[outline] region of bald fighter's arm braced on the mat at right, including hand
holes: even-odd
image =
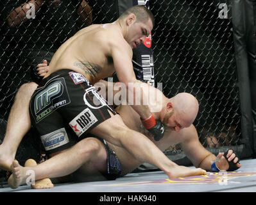
[[[187,158],[192,161],[195,167],[203,168],[207,171],[212,171],[212,164],[215,162],[219,170],[228,170],[228,161],[233,161],[237,168],[241,167],[241,164],[237,163],[238,158],[232,150],[227,153],[220,152],[216,157],[211,152],[207,151],[203,145],[201,145],[198,139],[198,133],[194,126],[191,127],[190,131],[185,136],[183,142],[181,143],[183,152],[186,154]],[[226,158],[223,156],[226,154]]]

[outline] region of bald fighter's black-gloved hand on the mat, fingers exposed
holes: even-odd
[[[234,171],[242,165],[239,163],[239,158],[232,149],[228,149],[225,153],[219,152],[216,157],[216,165],[220,170]]]

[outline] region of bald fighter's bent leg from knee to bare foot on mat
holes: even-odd
[[[105,151],[105,148],[99,140],[85,138],[73,147],[56,154],[35,167],[22,167],[15,160],[12,163],[13,174],[8,179],[8,184],[11,188],[17,188],[26,183],[26,172],[28,170],[35,172],[35,180],[67,176],[78,170],[82,165],[86,166],[92,160],[96,160],[95,168],[103,171],[104,168],[107,168],[107,154],[102,155],[103,151]]]

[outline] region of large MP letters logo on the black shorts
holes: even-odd
[[[43,110],[51,104],[51,99],[53,97],[58,97],[62,95],[63,85],[60,82],[55,82],[51,85],[49,85],[46,89],[42,90],[42,92],[38,93],[35,97],[34,102],[34,108],[35,113],[38,113],[39,111]],[[56,96],[57,95],[57,96]]]

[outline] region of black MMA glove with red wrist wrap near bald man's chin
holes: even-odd
[[[148,119],[142,120],[142,125],[148,129],[149,133],[154,135],[154,140],[159,141],[164,136],[164,125],[160,120],[155,120],[155,117],[151,113]]]

